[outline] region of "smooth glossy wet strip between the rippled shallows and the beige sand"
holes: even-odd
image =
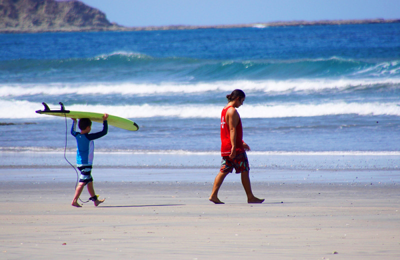
[[[212,183],[219,168],[166,167],[93,167],[92,175],[101,182],[201,182]],[[264,170],[250,169],[252,183],[267,184],[328,184],[328,185],[400,185],[398,170]],[[0,168],[0,182],[4,183],[76,183],[79,172],[72,167],[15,167]],[[224,183],[240,183],[240,174],[234,171]]]

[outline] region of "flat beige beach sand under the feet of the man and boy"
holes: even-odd
[[[221,205],[213,179],[95,180],[105,202],[81,208],[75,183],[2,181],[0,259],[400,259],[398,184],[253,181],[247,204],[229,177]]]

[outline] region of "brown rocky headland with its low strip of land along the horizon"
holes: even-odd
[[[0,33],[79,31],[187,30],[244,27],[312,26],[366,23],[398,23],[399,19],[293,20],[226,25],[122,26],[110,22],[99,9],[79,0],[2,0]]]

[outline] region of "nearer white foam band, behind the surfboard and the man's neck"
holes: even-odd
[[[59,107],[50,104],[49,107]],[[43,118],[46,115],[35,113],[42,109],[35,102],[0,99],[0,118]],[[219,118],[221,105],[180,104],[180,105],[83,105],[71,104],[68,110],[107,112],[127,118],[144,117],[178,117],[178,118]],[[265,103],[248,104],[238,108],[242,118],[274,118],[293,116],[321,116],[338,114],[358,115],[397,115],[400,116],[400,105],[394,102],[325,102],[325,103]]]

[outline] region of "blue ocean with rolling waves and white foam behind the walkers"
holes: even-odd
[[[64,164],[64,149],[73,163],[71,119],[35,113],[62,102],[139,125],[109,126],[99,154],[217,168],[220,111],[235,88],[246,93],[238,112],[255,167],[342,168],[332,156],[363,155],[400,168],[400,23],[0,34],[1,163],[54,152]],[[204,154],[215,160],[203,164]],[[320,159],[289,162],[299,154]],[[200,159],[174,161],[185,155]]]

